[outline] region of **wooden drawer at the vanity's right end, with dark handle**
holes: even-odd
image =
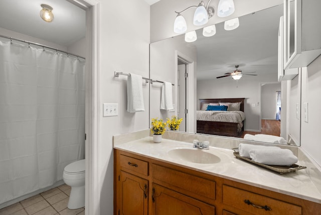
[[[302,214],[300,206],[227,185],[223,185],[223,203],[253,214]]]

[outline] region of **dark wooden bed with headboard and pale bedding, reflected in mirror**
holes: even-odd
[[[197,133],[240,137],[244,131],[244,99],[245,98],[206,98],[200,99],[200,111],[197,111]],[[209,103],[238,103],[239,111],[205,111]],[[203,110],[202,110],[203,109]],[[205,109],[205,110],[204,110]],[[213,115],[213,116],[212,116]],[[214,117],[217,115],[217,117]],[[223,115],[231,115],[225,120]],[[234,115],[234,116],[232,116]],[[211,118],[213,117],[213,119]]]

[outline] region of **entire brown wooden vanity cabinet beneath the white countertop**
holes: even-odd
[[[321,204],[114,150],[114,214],[321,214]]]

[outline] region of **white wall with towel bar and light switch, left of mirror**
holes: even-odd
[[[143,84],[145,112],[128,113],[126,76],[114,71],[149,74],[149,5],[141,0],[100,1],[99,13],[99,172],[100,214],[113,214],[113,135],[148,129],[148,85]],[[103,103],[118,103],[119,115],[102,117]]]

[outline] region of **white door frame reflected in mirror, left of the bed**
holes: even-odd
[[[195,91],[196,91],[196,77],[194,73],[194,60],[185,54],[175,51],[175,71],[178,70],[178,59],[186,64],[186,71],[188,73],[187,78],[187,92],[186,92],[186,104],[188,109],[187,120],[186,120],[186,131],[191,133],[196,133],[196,102],[195,102]],[[176,99],[178,99],[178,74],[176,72]],[[176,100],[176,103],[178,100]],[[176,110],[177,112],[177,110]]]

